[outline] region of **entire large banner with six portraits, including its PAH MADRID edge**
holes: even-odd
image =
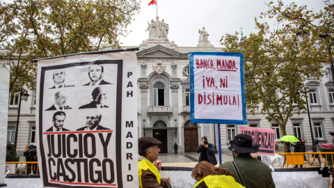
[[[138,187],[136,53],[38,62],[38,170],[45,187]]]

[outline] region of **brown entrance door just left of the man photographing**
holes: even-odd
[[[184,127],[184,152],[196,152],[198,148],[197,127]]]

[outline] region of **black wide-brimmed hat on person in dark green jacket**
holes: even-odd
[[[259,150],[259,146],[254,145],[252,137],[247,134],[238,134],[233,140],[230,140],[230,144],[231,146],[228,149],[239,153],[257,152]]]

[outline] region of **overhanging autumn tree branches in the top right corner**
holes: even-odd
[[[331,63],[332,79],[334,80],[333,51],[334,51],[334,4],[333,1],[323,0],[324,10],[314,13],[307,6],[297,6],[296,3],[285,5],[278,1],[277,5],[269,2],[269,10],[263,13],[264,17],[275,17],[279,24],[289,28],[289,24],[300,26],[308,33],[308,41],[315,42],[322,52],[323,62]],[[322,39],[321,39],[322,38]]]

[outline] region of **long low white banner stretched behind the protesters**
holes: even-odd
[[[276,187],[329,187],[330,178],[324,173],[319,173],[319,169],[320,167],[275,169],[271,172],[271,175]],[[191,171],[192,168],[162,166],[160,175],[161,177],[170,177],[170,185],[173,188],[192,188],[196,185],[196,180],[191,178]],[[40,178],[17,178],[17,176],[13,176],[6,178],[5,183],[7,187],[42,187]]]

